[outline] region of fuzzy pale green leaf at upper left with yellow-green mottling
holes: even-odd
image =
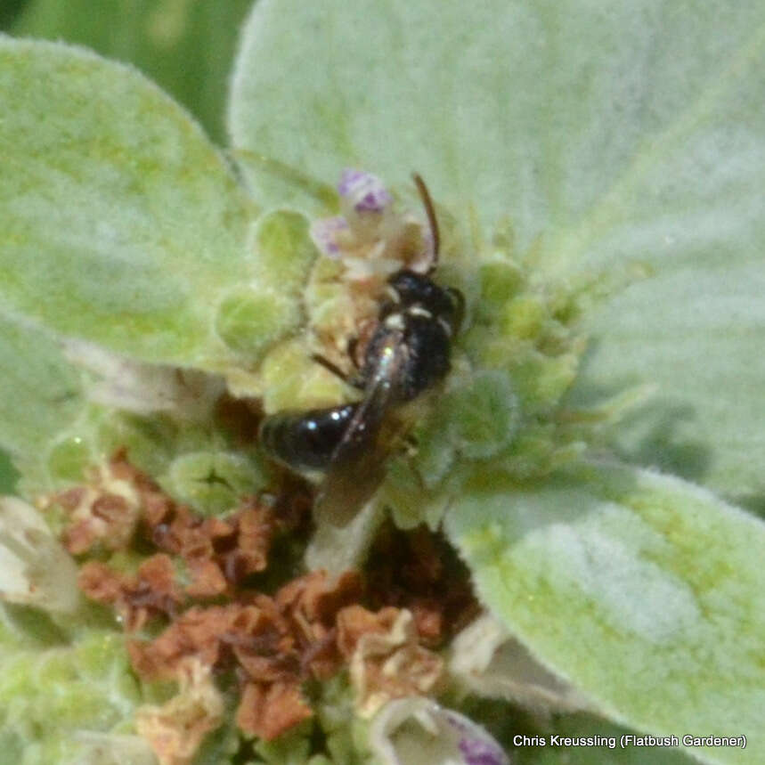
[[[199,127],[131,69],[0,40],[0,307],[146,361],[232,363],[253,210]],[[290,317],[294,319],[295,317]]]

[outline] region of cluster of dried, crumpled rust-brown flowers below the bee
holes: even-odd
[[[452,560],[444,565],[451,550],[425,528],[387,526],[367,583],[358,572],[330,579],[316,571],[273,596],[248,590],[248,577],[267,568],[276,535],[305,528],[310,497],[296,485],[294,494],[245,499],[227,517],[201,517],[118,452],[92,484],[53,498],[70,513],[70,549],[127,547],[140,530],[143,543],[160,550],[135,574],[88,561],[79,584],[113,606],[126,631],[152,617],[169,620],[156,639],[128,642],[139,677],[180,685],[170,702],[144,707],[137,718],[163,765],[186,765],[222,721],[218,672],[233,671],[240,681],[239,727],[271,740],[312,715],[305,680],[327,679],[346,665],[363,715],[389,699],[431,691],[443,662],[422,643],[439,644],[470,618],[475,599],[467,575]],[[183,584],[176,568],[188,577]],[[225,599],[191,602],[205,598]]]

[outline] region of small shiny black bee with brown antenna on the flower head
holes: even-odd
[[[385,461],[406,423],[404,404],[435,386],[450,369],[452,339],[460,329],[464,298],[430,278],[437,264],[439,233],[427,187],[414,175],[433,237],[428,274],[403,268],[387,281],[389,299],[354,377],[362,400],[327,409],[283,411],[264,420],[264,449],[290,468],[324,470],[317,517],[345,525],[385,476]],[[331,362],[314,357],[346,378]]]

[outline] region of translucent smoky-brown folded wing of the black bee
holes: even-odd
[[[389,414],[391,386],[380,378],[362,402],[335,448],[315,506],[317,523],[347,525],[369,501],[386,474],[401,424]]]

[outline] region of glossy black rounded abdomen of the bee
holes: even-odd
[[[326,469],[357,406],[346,403],[328,409],[273,414],[260,426],[260,443],[274,460],[289,468]]]

